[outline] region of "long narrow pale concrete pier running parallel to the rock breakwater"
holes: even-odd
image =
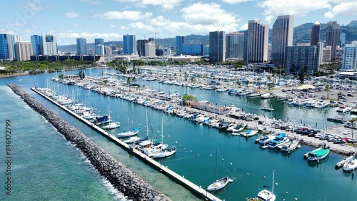
[[[73,111],[69,110],[68,108],[64,107],[64,105],[61,105],[61,104],[57,103],[56,101],[52,100],[48,96],[44,95],[44,93],[41,93],[40,91],[36,90],[36,88],[31,88],[31,90],[38,93],[40,96],[46,98],[46,100],[49,100],[51,103],[54,103],[59,108],[66,111],[66,113],[69,113],[69,114],[73,115],[75,118],[81,120],[81,122],[83,122],[86,125],[88,125],[89,127],[93,128],[98,133],[100,133],[104,137],[108,138],[112,142],[116,143],[116,145],[119,145],[121,148],[124,148],[124,150],[127,150],[129,153],[133,154],[140,160],[143,160],[145,163],[151,165],[151,167],[155,168],[156,170],[159,170],[164,175],[170,177],[172,180],[175,180],[183,187],[186,187],[186,189],[190,190],[198,197],[201,197],[201,199],[220,201],[220,199],[218,197],[212,195],[210,192],[207,192],[202,187],[198,187],[193,182],[190,182],[189,180],[187,180],[184,176],[178,175],[176,172],[170,170],[169,168],[162,166],[156,160],[149,158],[147,155],[144,155],[144,153],[141,153],[139,150],[135,150],[135,149],[131,148],[131,146],[124,143],[122,140],[116,138],[114,135],[111,135],[110,133],[107,133],[106,130],[99,128],[97,125],[95,125],[94,123],[91,123],[89,120],[82,118],[80,115],[78,115],[78,114],[74,113]]]

